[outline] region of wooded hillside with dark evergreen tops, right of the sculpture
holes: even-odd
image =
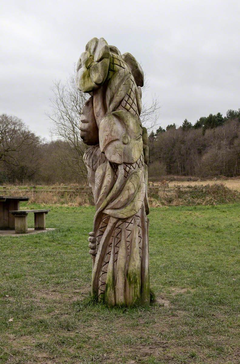
[[[150,177],[240,175],[240,109],[161,126],[149,135]]]

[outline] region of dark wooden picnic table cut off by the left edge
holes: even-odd
[[[29,197],[0,196],[0,229],[15,229],[15,217],[9,212],[19,210],[20,201],[28,201]]]

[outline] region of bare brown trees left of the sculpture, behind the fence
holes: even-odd
[[[83,183],[79,168],[82,172],[84,165],[69,143],[60,138],[45,141],[16,116],[0,115],[1,184]]]

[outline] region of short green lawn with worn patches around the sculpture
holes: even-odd
[[[0,363],[240,363],[240,204],[151,209],[148,309],[91,301],[93,215],[51,206],[55,231],[0,238]]]

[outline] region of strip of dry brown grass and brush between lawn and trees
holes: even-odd
[[[180,205],[216,205],[240,201],[240,179],[216,181],[161,181],[154,183],[158,189],[150,188],[148,191],[150,207],[180,206]],[[51,186],[54,187],[54,186]],[[150,182],[149,187],[153,187]],[[38,190],[36,192],[17,189],[10,186],[6,190],[0,189],[0,195],[15,195],[29,197],[29,204],[64,205],[64,206],[91,206],[94,205],[91,191],[64,190]]]

